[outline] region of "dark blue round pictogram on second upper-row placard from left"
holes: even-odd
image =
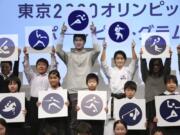
[[[41,29],[36,29],[29,35],[29,44],[35,50],[43,50],[49,44],[48,34]]]

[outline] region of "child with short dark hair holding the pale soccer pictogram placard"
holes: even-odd
[[[96,74],[90,73],[86,77],[86,84],[89,91],[96,91],[96,88],[99,83],[99,78]],[[77,111],[80,110],[80,107],[77,106]],[[104,108],[104,111],[107,112],[107,108]],[[92,126],[92,135],[103,135],[104,134],[104,120],[85,120]]]

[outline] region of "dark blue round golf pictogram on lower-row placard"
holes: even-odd
[[[129,126],[136,125],[142,119],[141,108],[137,104],[127,103],[121,107],[119,118],[124,120]]]

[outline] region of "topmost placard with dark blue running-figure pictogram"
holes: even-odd
[[[90,34],[92,24],[91,8],[67,8],[66,34]]]

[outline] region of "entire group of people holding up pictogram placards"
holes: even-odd
[[[99,78],[92,73],[92,67],[100,54],[100,47],[96,39],[96,27],[91,25],[92,34],[91,50],[84,48],[86,35],[75,34],[73,37],[74,49],[71,52],[63,50],[63,39],[67,27],[63,24],[60,39],[56,48],[52,48],[51,65],[40,58],[36,62],[35,71],[29,63],[27,48],[24,48],[24,73],[30,86],[30,100],[25,101],[23,110],[25,123],[6,123],[0,118],[0,135],[104,135],[104,120],[77,120],[77,112],[81,109],[77,105],[77,94],[79,90],[96,91]],[[101,54],[101,69],[108,79],[111,97],[108,99],[107,107],[104,111],[108,118],[114,116],[114,100],[127,98],[135,99],[137,84],[132,81],[138,67],[138,58],[135,52],[135,42],[132,41],[132,60],[125,66],[126,53],[118,50],[114,53],[114,67],[106,63],[107,43],[103,42]],[[178,63],[180,69],[180,45],[177,47]],[[20,49],[18,51],[20,56]],[[67,67],[65,85],[61,86],[61,76],[58,71],[58,62],[55,53]],[[140,67],[142,80],[145,84],[146,100],[146,131],[128,130],[127,124],[123,120],[114,121],[112,130],[114,135],[178,135],[179,127],[157,127],[158,117],[155,109],[155,96],[178,95],[178,80],[175,75],[171,75],[171,56],[163,64],[161,58],[152,58],[147,66],[146,59],[142,58],[143,51],[140,52]],[[19,59],[14,64],[11,61],[1,62],[0,93],[17,93],[21,89],[19,75]],[[38,119],[38,92],[39,91],[63,91],[68,90],[68,100],[65,105],[68,107],[68,117]],[[143,97],[142,97],[143,98]],[[27,125],[30,132],[25,130]]]

